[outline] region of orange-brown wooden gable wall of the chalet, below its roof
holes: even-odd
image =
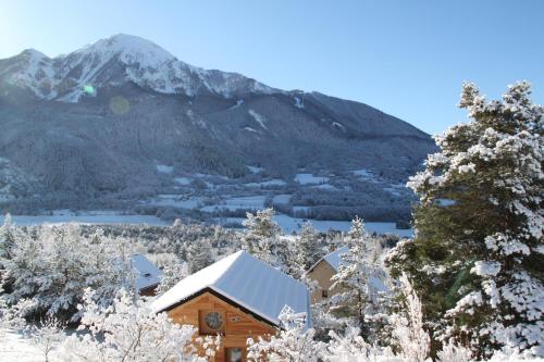
[[[225,348],[246,348],[248,338],[256,339],[258,336],[267,337],[275,334],[275,328],[268,323],[261,322],[249,313],[232,305],[211,292],[205,292],[168,312],[169,316],[176,323],[190,324],[199,327],[199,311],[214,310],[224,313],[225,335],[222,337],[221,348],[215,355],[215,362],[225,361]]]

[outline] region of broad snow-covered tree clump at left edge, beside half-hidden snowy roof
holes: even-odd
[[[34,315],[76,321],[86,288],[95,289],[97,301],[108,305],[116,290],[134,286],[127,244],[101,230],[83,236],[74,224],[17,234],[2,273],[5,300],[15,305],[30,299]]]

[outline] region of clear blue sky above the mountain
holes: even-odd
[[[138,35],[178,59],[364,102],[437,133],[466,120],[461,82],[544,100],[544,1],[0,0],[0,58]]]

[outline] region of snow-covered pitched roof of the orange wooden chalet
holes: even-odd
[[[288,305],[295,313],[306,313],[306,324],[310,326],[310,295],[306,286],[246,251],[187,276],[154,300],[152,308],[156,312],[168,310],[207,288],[274,325],[280,325],[279,316]]]

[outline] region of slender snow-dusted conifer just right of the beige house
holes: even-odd
[[[367,316],[375,309],[374,288],[369,280],[380,271],[376,260],[369,257],[373,255],[378,241],[364,229],[362,220],[356,217],[347,242],[349,249],[339,255],[338,271],[332,277],[332,288],[338,292],[331,298],[331,311],[368,336]]]

